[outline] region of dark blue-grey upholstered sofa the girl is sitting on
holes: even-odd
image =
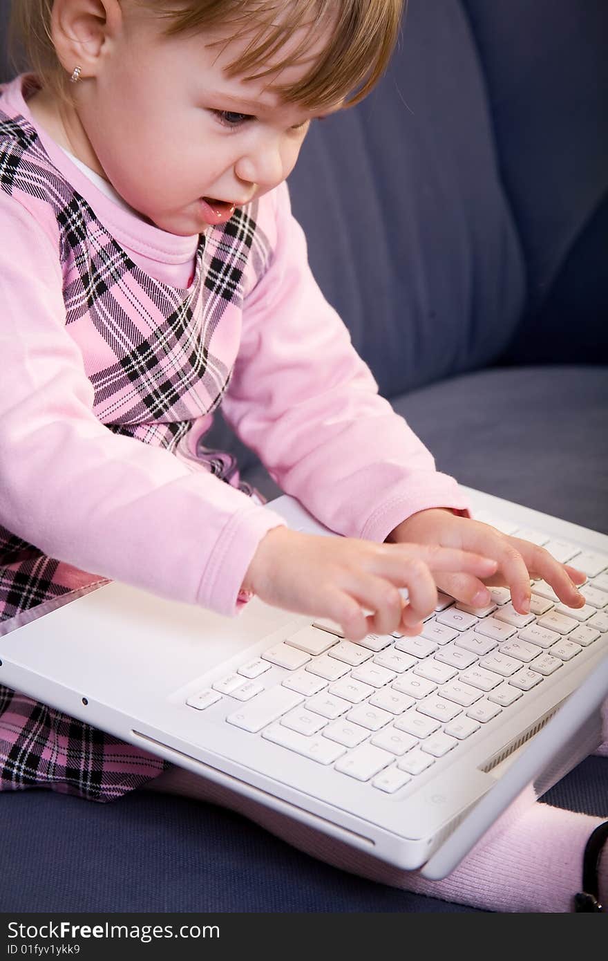
[[[410,0],[386,77],[311,130],[290,178],[315,276],[438,469],[604,532],[607,27],[602,0]],[[212,440],[280,493],[221,419]],[[607,769],[588,758],[547,801],[605,815]],[[195,801],[0,810],[4,911],[467,910]]]

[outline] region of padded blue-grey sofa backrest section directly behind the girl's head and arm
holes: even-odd
[[[458,0],[409,0],[389,71],[313,125],[289,184],[313,273],[385,396],[499,357],[523,259]]]

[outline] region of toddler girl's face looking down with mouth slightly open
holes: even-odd
[[[310,120],[320,115],[281,102],[266,86],[272,76],[228,79],[223,68],[246,40],[222,52],[206,46],[217,36],[166,38],[158,21],[125,25],[79,98],[85,133],[109,182],[172,234],[199,234],[231,215],[230,206],[215,205],[213,213],[202,198],[241,206],[279,185]],[[277,83],[297,81],[307,67],[288,67]]]

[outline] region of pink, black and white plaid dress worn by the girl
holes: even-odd
[[[110,431],[174,454],[185,450],[193,423],[218,407],[231,378],[238,335],[234,357],[226,350],[220,357],[213,334],[222,320],[240,332],[244,290],[272,256],[255,221],[257,203],[201,234],[194,280],[180,289],[135,264],[50,160],[32,124],[1,110],[0,188],[16,200],[43,200],[55,214],[66,331],[81,347],[95,416]],[[188,466],[257,494],[230,455],[199,443]],[[33,608],[37,616],[99,581],[0,527],[0,633],[32,620]],[[46,786],[109,801],[167,766],[0,686],[0,790]]]

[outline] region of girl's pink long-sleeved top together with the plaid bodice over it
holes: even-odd
[[[331,530],[379,542],[426,507],[471,516],[315,283],[287,185],[225,227],[167,234],[38,127],[30,83],[0,87],[0,525],[234,614],[260,539],[284,522],[198,462],[220,402]]]

